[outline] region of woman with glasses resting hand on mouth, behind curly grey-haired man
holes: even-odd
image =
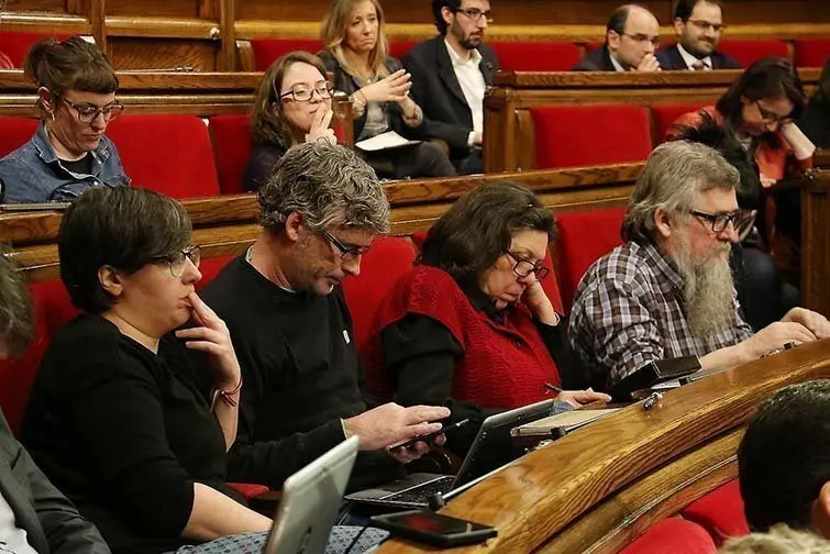
[[[255,192],[272,169],[295,144],[337,142],[329,128],[332,87],[323,63],[308,52],[289,52],[263,75],[251,118],[254,149],[243,177],[243,188]]]

